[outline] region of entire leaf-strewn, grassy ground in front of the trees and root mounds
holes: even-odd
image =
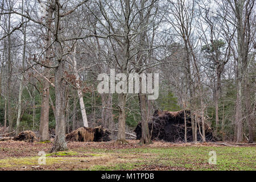
[[[140,146],[110,142],[69,142],[68,151],[49,153],[51,142],[0,142],[0,170],[256,170],[255,146],[154,142]],[[39,164],[39,151],[46,164]],[[209,164],[209,152],[217,164]],[[41,159],[41,158],[40,158]]]

